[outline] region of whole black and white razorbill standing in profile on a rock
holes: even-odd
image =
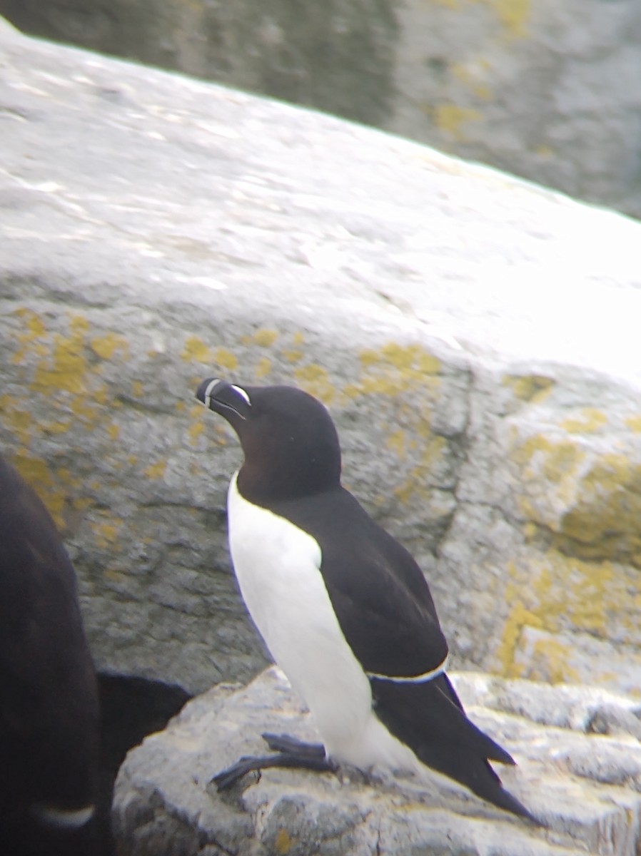
[[[421,569],[340,484],[326,407],[301,389],[214,378],[196,396],[242,443],[228,493],[231,560],[256,627],[323,741],[265,735],[282,757],[243,760],[216,777],[219,787],[270,765],[427,765],[533,819],[489,764],[512,757],[465,716],[447,678],[447,643]]]

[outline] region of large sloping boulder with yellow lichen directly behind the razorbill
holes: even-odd
[[[202,377],[332,408],[454,662],[641,681],[641,226],[423,146],[0,29],[0,446],[99,668],[266,663]]]

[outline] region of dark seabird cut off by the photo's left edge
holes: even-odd
[[[98,853],[99,706],[75,572],[0,457],[0,851]]]

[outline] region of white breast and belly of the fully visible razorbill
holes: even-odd
[[[289,520],[245,500],[236,479],[228,525],[238,585],[274,660],[308,704],[326,752],[359,767],[414,766],[413,753],[372,713],[368,678],[327,594],[319,544]]]

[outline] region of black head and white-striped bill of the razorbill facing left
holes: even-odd
[[[208,377],[199,401],[236,431],[245,461],[238,488],[259,504],[340,484],[338,434],[324,404],[292,386],[238,386]]]

